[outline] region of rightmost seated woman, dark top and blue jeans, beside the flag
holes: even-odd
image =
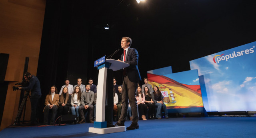
[[[151,97],[157,106],[156,118],[162,119],[162,115],[161,115],[162,108],[164,109],[164,114],[165,114],[164,118],[166,118],[166,119],[169,118],[166,105],[164,104],[164,99],[163,99],[162,93],[159,91],[157,86],[154,86],[154,92],[151,94]]]

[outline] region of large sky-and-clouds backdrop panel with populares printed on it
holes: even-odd
[[[206,111],[256,110],[256,41],[190,61]]]

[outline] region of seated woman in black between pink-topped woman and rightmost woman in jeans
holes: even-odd
[[[145,104],[148,106],[148,114],[150,119],[154,119],[155,114],[155,103],[152,101],[151,94],[147,86],[144,87]]]

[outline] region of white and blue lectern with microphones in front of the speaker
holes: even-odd
[[[125,131],[125,126],[115,126],[107,128],[107,122],[105,121],[105,105],[106,103],[106,91],[110,90],[113,92],[113,71],[117,71],[128,67],[128,63],[117,61],[114,59],[106,59],[105,56],[96,60],[94,62],[94,67],[98,67],[98,88],[97,88],[97,105],[96,105],[96,121],[94,122],[94,127],[89,128],[89,132],[97,134],[108,134],[114,132]],[[112,74],[112,77],[111,77]],[[109,81],[107,81],[107,75]],[[108,89],[107,88],[112,88]],[[109,95],[113,97],[113,95]],[[107,99],[108,100],[108,99]],[[111,106],[114,106],[112,104]],[[113,110],[111,111],[113,112]],[[108,114],[108,113],[107,113]],[[112,116],[111,116],[112,117]]]

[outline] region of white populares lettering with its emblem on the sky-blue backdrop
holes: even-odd
[[[255,48],[255,45],[252,46],[252,48],[250,48],[250,49],[246,49],[246,50],[242,50],[242,51],[238,51],[238,52],[233,51],[233,53],[228,54],[228,55],[224,55],[224,54],[215,55],[213,57],[213,62],[216,63],[216,60],[217,60],[217,63],[219,63],[222,60],[228,61],[228,59],[230,59],[230,58],[240,57],[244,54],[254,53],[254,50],[253,50],[254,48]]]

